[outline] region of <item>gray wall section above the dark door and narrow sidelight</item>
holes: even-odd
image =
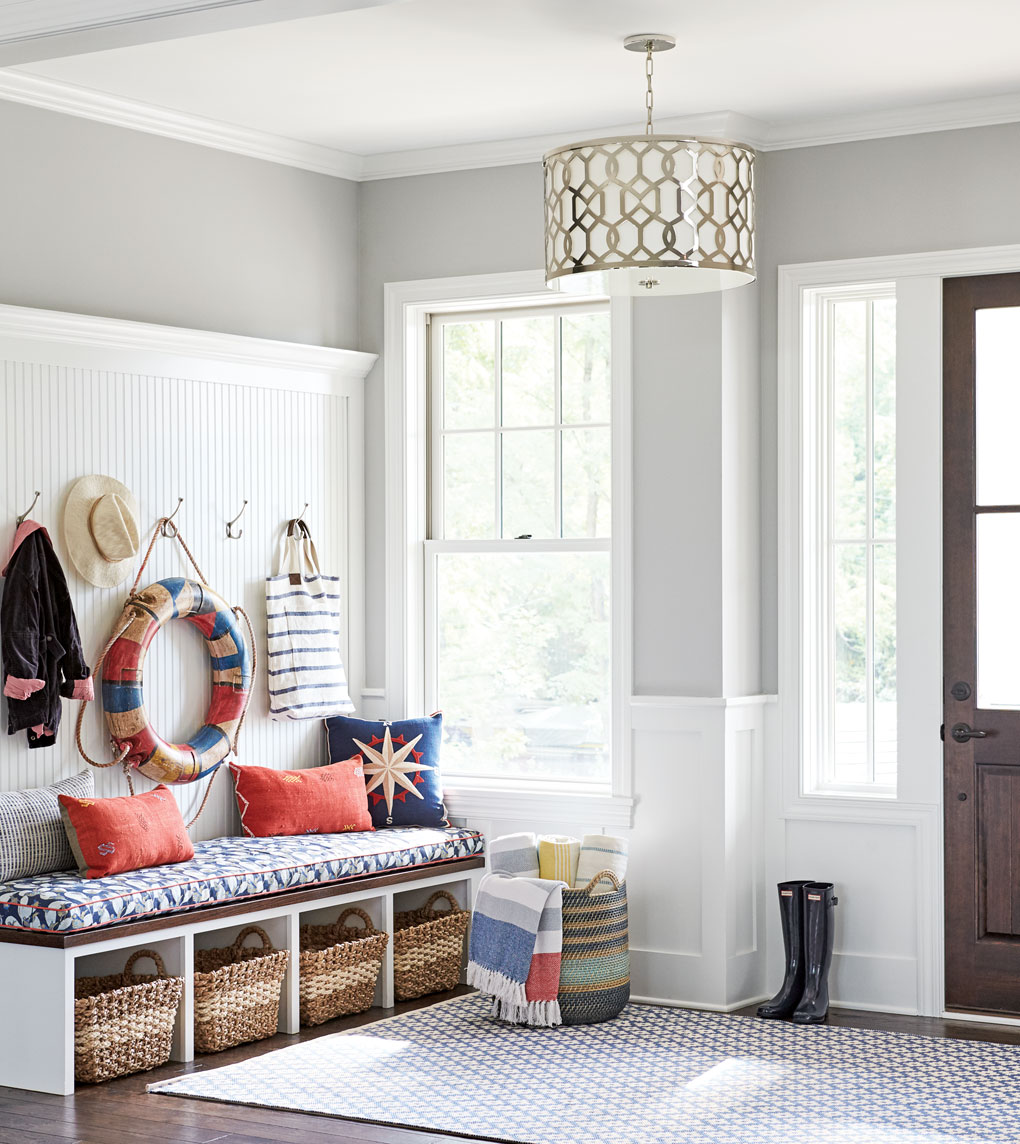
[[[762,156],[762,662],[778,682],[776,268],[1020,243],[1020,125]]]

